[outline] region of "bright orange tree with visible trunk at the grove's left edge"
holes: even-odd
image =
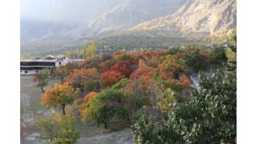
[[[72,88],[70,84],[54,84],[45,91],[42,96],[41,104],[48,107],[56,107],[61,105],[63,114],[65,115],[65,106],[72,105],[74,98],[79,94],[80,90]]]

